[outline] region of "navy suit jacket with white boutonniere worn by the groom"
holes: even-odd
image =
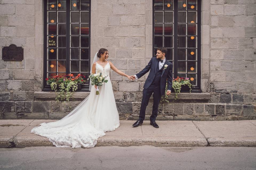
[[[165,94],[166,79],[167,79],[167,83],[168,83],[167,90],[171,90],[172,82],[173,82],[173,64],[171,62],[165,60],[163,67],[166,64],[168,66],[166,69],[164,69],[162,71],[161,80],[160,80],[161,81],[160,82],[161,95]],[[152,82],[155,78],[157,67],[159,67],[158,59],[156,57],[152,57],[151,60],[149,61],[148,65],[143,70],[141,70],[138,74],[136,74],[136,76],[138,78],[141,78],[144,74],[146,74],[150,70],[149,76],[147,77],[143,88],[147,89],[152,84]]]

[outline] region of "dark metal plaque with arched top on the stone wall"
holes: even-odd
[[[17,47],[15,44],[11,44],[3,47],[2,59],[4,61],[22,61],[23,60],[23,48]]]

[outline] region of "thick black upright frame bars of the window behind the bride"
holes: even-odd
[[[70,73],[70,2],[66,0],[66,74]],[[81,16],[80,16],[81,17]],[[91,50],[91,0],[89,0],[89,66],[91,64],[90,50]],[[47,78],[47,0],[43,1],[43,90],[52,91],[49,84],[45,80]],[[57,48],[56,48],[57,49]],[[90,70],[90,67],[89,67]],[[87,79],[88,77],[86,77]],[[89,84],[82,84],[81,90],[76,91],[89,91]]]

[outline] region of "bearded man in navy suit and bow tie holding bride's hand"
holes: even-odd
[[[142,93],[143,97],[141,101],[141,110],[139,112],[139,120],[137,120],[133,124],[133,127],[138,127],[143,123],[143,120],[145,119],[146,107],[149,104],[149,98],[153,93],[153,110],[150,116],[150,125],[154,126],[155,128],[159,128],[159,126],[155,122],[155,118],[157,117],[158,112],[158,105],[161,100],[161,96],[165,94],[166,79],[168,82],[168,88],[166,93],[167,95],[171,94],[173,80],[173,64],[166,60],[166,54],[166,48],[157,48],[157,57],[152,57],[148,65],[142,71],[140,71],[136,75],[131,76],[134,79],[139,79],[150,70],[149,75],[143,86],[144,89]]]

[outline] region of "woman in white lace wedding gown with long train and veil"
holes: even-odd
[[[109,75],[110,68],[129,80],[132,77],[118,70],[110,61],[107,49],[101,48],[94,56],[90,73]],[[119,115],[115,104],[114,93],[109,76],[99,88],[99,95],[95,95],[96,86],[73,111],[61,120],[41,123],[31,133],[49,138],[57,147],[85,147],[91,148],[97,144],[97,139],[105,135],[106,131],[114,131],[119,127]],[[91,87],[91,85],[90,85]]]

